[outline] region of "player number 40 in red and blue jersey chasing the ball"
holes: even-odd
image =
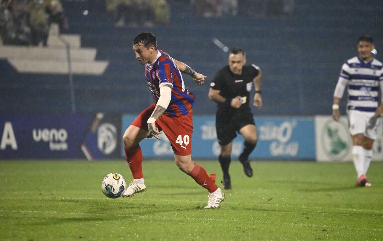
[[[202,84],[206,76],[157,49],[156,37],[152,33],[138,34],[133,39],[133,50],[136,59],[145,65],[145,78],[154,103],[137,116],[123,136],[126,161],[134,179],[122,196],[130,197],[146,190],[139,142],[146,137],[160,139],[163,130],[173,148],[177,166],[209,191],[205,208],[218,208],[224,194],[206,170],[191,160],[194,95],[185,88],[181,72],[190,75],[198,84]]]

